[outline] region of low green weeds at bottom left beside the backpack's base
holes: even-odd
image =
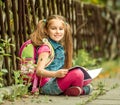
[[[11,101],[14,101],[18,97],[23,97],[28,94],[28,87],[31,85],[30,82],[28,84],[24,84],[23,78],[28,78],[26,75],[22,75],[20,71],[14,71],[14,79],[15,84],[13,84],[11,89],[8,89],[5,91],[5,94],[0,94],[0,103],[3,103],[4,99],[9,99]]]

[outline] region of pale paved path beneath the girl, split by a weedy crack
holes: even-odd
[[[105,84],[108,92],[106,94],[98,96],[97,99],[92,100],[89,103],[83,104],[90,97],[67,97],[67,96],[30,96],[29,98],[19,98],[14,102],[5,101],[3,105],[120,105],[120,76],[115,78],[104,78],[94,80],[94,85],[102,81]],[[113,88],[113,89],[112,89]]]

